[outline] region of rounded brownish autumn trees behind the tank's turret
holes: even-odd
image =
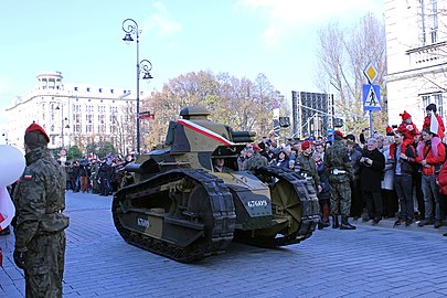
[[[211,120],[235,130],[267,135],[273,127],[272,99],[275,96],[278,97],[278,93],[264,74],[255,82],[203,71],[180,75],[145,100],[145,107],[155,114],[145,141],[150,146],[163,142],[169,121],[178,119],[179,111],[190,105],[205,106],[211,110]]]

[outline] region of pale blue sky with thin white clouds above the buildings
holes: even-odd
[[[35,86],[40,71],[63,82],[136,88],[136,44],[123,42],[137,21],[140,60],[152,76],[142,89],[199,71],[252,81],[264,73],[287,98],[315,85],[318,29],[383,17],[381,0],[15,0],[0,9],[0,107]],[[135,38],[135,36],[134,36]]]

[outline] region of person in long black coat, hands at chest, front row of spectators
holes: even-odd
[[[363,149],[362,158],[360,159],[361,188],[363,199],[366,203],[368,216],[363,221],[373,220],[373,224],[377,224],[382,220],[382,177],[385,168],[385,157],[377,149],[377,140],[371,138],[368,140],[366,148]]]

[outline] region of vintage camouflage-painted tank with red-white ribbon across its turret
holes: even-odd
[[[309,237],[319,221],[313,187],[275,166],[241,171],[237,157],[255,134],[233,131],[209,114],[201,106],[182,109],[166,142],[126,167],[134,182],[111,206],[123,238],[189,263],[224,252],[233,240],[277,247]]]

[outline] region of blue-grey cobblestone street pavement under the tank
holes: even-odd
[[[64,297],[446,297],[446,226],[359,223],[324,228],[278,249],[233,243],[227,252],[180,264],[128,245],[111,196],[67,192]],[[0,297],[23,297],[13,235],[0,236]]]

